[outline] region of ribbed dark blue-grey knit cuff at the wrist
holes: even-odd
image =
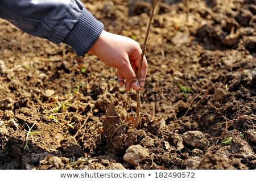
[[[83,56],[96,42],[103,28],[101,22],[88,10],[83,9],[79,20],[62,42],[71,46],[77,56]]]

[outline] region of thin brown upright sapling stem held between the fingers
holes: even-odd
[[[145,36],[143,47],[142,47],[141,60],[139,62],[139,69],[138,69],[138,72],[137,72],[138,81],[141,79],[141,68],[142,68],[143,58],[144,58],[144,54],[145,54],[146,47],[147,47],[147,37],[148,37],[148,33],[150,32],[150,27],[151,27],[152,19],[153,19],[154,12],[155,12],[156,2],[157,2],[157,0],[153,1],[153,5],[152,5],[152,9],[151,9],[151,15],[150,15],[150,21],[149,21],[148,26],[147,26],[147,32],[146,32],[146,36]],[[136,94],[137,94],[137,110],[136,110],[136,120],[135,120],[135,123],[134,123],[134,128],[138,128],[138,124],[141,121],[141,116],[140,116],[140,113],[141,113],[141,95],[139,94],[138,90],[136,91]]]

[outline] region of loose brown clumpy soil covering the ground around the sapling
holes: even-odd
[[[84,2],[142,45],[151,1]],[[115,69],[0,24],[1,169],[256,169],[255,0],[158,2],[138,129]]]

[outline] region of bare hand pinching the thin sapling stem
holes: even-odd
[[[119,86],[124,85],[126,80],[126,90],[142,90],[142,86],[147,74],[147,60],[143,58],[141,69],[141,79],[138,81],[134,70],[139,68],[142,49],[133,39],[125,36],[115,35],[102,31],[100,37],[89,50],[106,65],[117,68]],[[139,83],[140,82],[140,83]]]

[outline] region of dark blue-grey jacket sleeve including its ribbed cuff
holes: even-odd
[[[34,36],[87,53],[104,26],[79,0],[1,0],[0,18]]]

